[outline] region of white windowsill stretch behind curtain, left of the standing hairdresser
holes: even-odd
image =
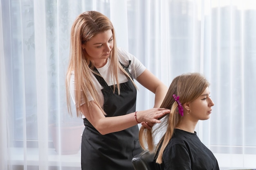
[[[23,148],[9,148],[10,159],[8,164],[24,165],[25,160],[28,166],[38,166],[38,148],[27,148],[25,151],[27,152],[26,157]],[[74,155],[58,155],[54,148],[49,148],[46,158],[41,163],[47,163],[47,166],[81,167],[81,150]]]

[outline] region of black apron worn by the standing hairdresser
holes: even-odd
[[[121,65],[131,76],[128,71],[130,64],[127,67]],[[98,72],[97,69],[95,71]],[[107,113],[106,117],[135,112],[137,90],[130,78],[128,82],[120,84],[120,95],[118,95],[117,89],[113,93],[113,85],[108,86],[101,76],[96,74],[94,76],[103,86],[101,91],[104,96],[103,109]],[[84,125],[81,144],[82,170],[134,170],[132,157],[142,151],[137,125],[106,135],[101,135],[86,118]]]

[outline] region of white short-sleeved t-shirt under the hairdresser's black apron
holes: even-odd
[[[141,73],[143,73],[146,70],[146,67],[132,54],[126,52],[125,50],[118,48],[118,60],[124,65],[127,66],[129,64],[129,60],[131,61],[130,66],[128,68],[130,74],[132,74],[132,78],[136,79],[139,75],[141,75]],[[111,70],[110,70],[110,59],[108,58],[108,61],[106,63],[106,65],[104,65],[101,68],[97,68],[97,70],[99,71],[99,73],[101,74],[101,76],[104,78],[104,80],[106,81],[106,83],[110,86],[110,85],[114,85],[116,84],[115,82],[112,81],[111,79]],[[91,80],[94,83],[94,87],[96,88],[97,92],[99,93],[100,96],[100,102],[101,102],[101,106],[103,105],[104,102],[104,98],[103,98],[103,94],[101,92],[101,89],[103,89],[103,87],[101,86],[101,84],[99,83],[99,81],[97,80],[97,78],[91,73]],[[118,80],[119,83],[125,83],[128,81],[128,78],[126,77],[126,75],[124,74],[118,74]],[[86,80],[85,80],[86,81]],[[71,74],[70,77],[70,94],[72,97],[73,102],[75,103],[74,100],[74,74]],[[90,95],[88,95],[89,98],[88,100],[91,101],[93,100],[92,97],[90,97]],[[85,103],[85,100],[82,98],[82,104]]]

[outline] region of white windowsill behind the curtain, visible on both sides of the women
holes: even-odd
[[[38,148],[27,148],[27,157],[24,157],[23,148],[9,148],[9,165],[24,165],[26,160],[27,166],[38,166]],[[256,155],[241,155],[241,154],[214,154],[218,160],[221,170],[240,168],[256,168]],[[48,154],[45,161],[47,166],[62,166],[62,167],[81,167],[81,150],[74,155],[58,155],[53,148],[48,149]],[[236,168],[224,168],[236,167]]]

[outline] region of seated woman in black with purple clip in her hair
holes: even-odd
[[[174,78],[160,107],[171,110],[162,123],[152,131],[141,127],[139,141],[142,148],[155,151],[155,165],[159,170],[219,170],[213,153],[195,132],[198,120],[210,118],[213,101],[209,83],[199,73],[182,74]],[[153,134],[164,131],[155,148]]]

